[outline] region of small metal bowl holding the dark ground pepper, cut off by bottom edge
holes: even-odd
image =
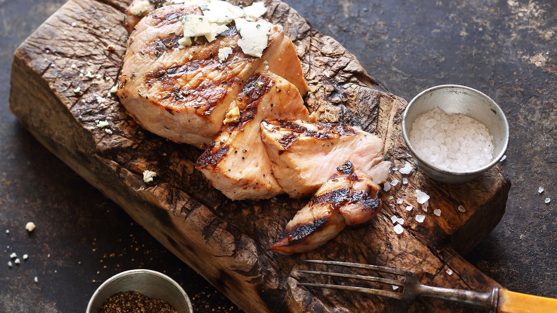
[[[178,313],[192,313],[192,302],[172,278],[151,270],[130,270],[110,277],[97,288],[89,300],[86,313],[98,313],[110,296],[125,291],[137,291],[152,299],[168,302]]]

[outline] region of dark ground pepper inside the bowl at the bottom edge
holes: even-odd
[[[178,313],[178,311],[166,301],[151,299],[136,291],[126,291],[107,299],[99,313]]]

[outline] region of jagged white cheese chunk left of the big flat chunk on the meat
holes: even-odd
[[[217,23],[209,22],[207,17],[188,14],[180,17],[180,22],[184,27],[184,38],[178,41],[180,46],[192,45],[190,37],[205,36],[208,42],[213,41],[219,33],[228,30],[226,25],[218,25]]]

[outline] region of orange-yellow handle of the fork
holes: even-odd
[[[551,313],[557,312],[557,299],[538,297],[501,288],[497,312],[500,313]]]

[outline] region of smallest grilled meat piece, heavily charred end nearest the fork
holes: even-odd
[[[286,224],[286,229],[270,250],[290,254],[323,246],[346,225],[372,219],[381,209],[379,185],[346,160],[336,168],[310,202]]]

